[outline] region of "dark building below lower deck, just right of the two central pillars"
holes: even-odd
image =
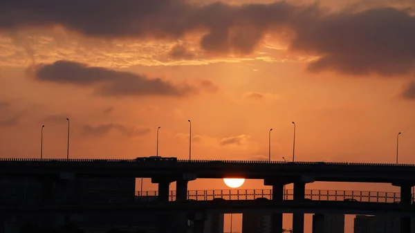
[[[344,214],[313,214],[313,233],[344,233]]]

